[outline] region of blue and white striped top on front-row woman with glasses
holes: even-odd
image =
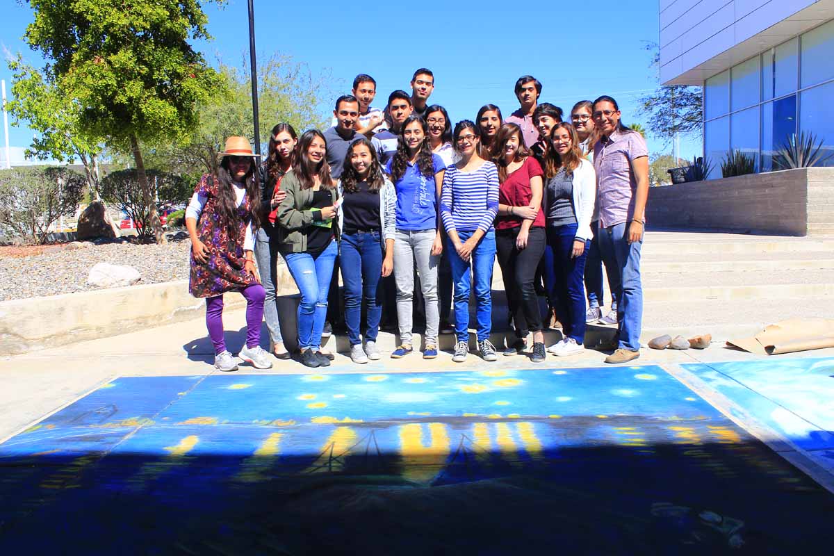
[[[440,218],[447,232],[460,230],[485,233],[493,229],[498,213],[498,170],[485,162],[474,172],[463,172],[455,164],[446,168],[440,194]]]

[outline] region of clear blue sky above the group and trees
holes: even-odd
[[[41,65],[38,53],[22,37],[33,20],[28,3],[4,0],[4,55],[23,53],[29,63]],[[373,5],[365,10],[363,6]],[[655,88],[656,73],[649,67],[645,47],[656,42],[656,0],[608,3],[592,10],[578,3],[522,4],[485,0],[477,3],[275,3],[255,0],[256,41],[259,58],[271,53],[289,54],[309,65],[314,74],[329,73],[338,80],[334,90],[349,92],[357,73],[377,80],[381,106],[396,88],[409,90],[414,69],[435,73],[431,103],[440,103],[458,121],[475,118],[482,104],[494,103],[505,115],[518,108],[515,80],[535,75],[544,84],[540,100],[565,111],[578,100],[609,94],[620,103],[625,123],[636,116],[637,99]],[[276,8],[280,6],[280,8]],[[379,8],[377,8],[379,6]],[[420,6],[420,18],[415,7]],[[224,8],[205,7],[214,41],[198,43],[209,63],[218,58],[239,65],[249,49],[247,3],[229,0]],[[0,78],[11,73],[3,63]],[[328,113],[331,100],[320,107]],[[10,128],[12,146],[28,146],[28,128]],[[671,152],[661,141],[649,138],[652,153]],[[700,138],[681,139],[681,155],[700,153]]]

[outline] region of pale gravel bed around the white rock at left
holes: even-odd
[[[139,271],[138,284],[188,278],[188,239],[165,245],[104,243],[72,250],[47,250],[28,257],[0,250],[0,301],[82,292],[96,263],[124,264]],[[35,251],[38,253],[38,251]]]

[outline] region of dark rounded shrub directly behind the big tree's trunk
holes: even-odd
[[[176,202],[174,199],[165,198],[171,194],[169,192],[182,192],[187,187],[183,185],[185,180],[175,174],[156,170],[148,170],[147,174],[148,183],[152,188],[156,188],[160,200],[166,202]],[[116,203],[118,208],[128,215],[128,218],[133,219],[139,238],[153,238],[148,207],[143,201],[142,187],[139,185],[138,172],[135,169],[109,173],[102,180],[101,194],[103,198]]]

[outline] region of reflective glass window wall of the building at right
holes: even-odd
[[[813,133],[834,166],[834,20],[769,48],[704,83],[704,155],[721,178],[728,151],[773,169],[773,155],[792,135]],[[826,117],[825,113],[829,116]]]

